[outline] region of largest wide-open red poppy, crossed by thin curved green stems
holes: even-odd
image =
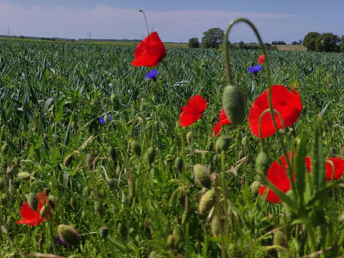
[[[301,113],[302,103],[299,93],[291,88],[293,92],[290,92],[284,85],[272,85],[272,107],[277,110],[286,127],[293,125]],[[259,137],[259,118],[261,113],[269,108],[268,102],[268,89],[263,91],[253,103],[250,113],[248,115],[248,123],[252,133]],[[279,116],[275,113],[275,120],[278,129],[283,128]],[[266,138],[273,135],[275,127],[273,126],[271,113],[266,112],[261,119],[261,137]]]

